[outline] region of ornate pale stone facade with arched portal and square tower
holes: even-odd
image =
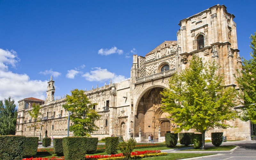
[[[177,41],[164,41],[145,57],[133,55],[131,78],[119,83],[105,84],[89,91],[85,91],[92,103],[98,105],[94,109],[101,115],[95,124],[99,130],[93,132],[92,137],[99,139],[112,134],[136,138],[140,141],[143,134],[156,133],[156,138],[163,141],[166,132],[172,132],[176,125],[166,118],[167,113],[161,109],[160,92],[168,87],[168,79],[173,73],[180,73],[189,66],[188,61],[192,55],[198,55],[205,61],[215,60],[220,69],[218,73],[224,74],[226,86],[238,88],[233,74],[236,69],[241,70],[241,58],[237,49],[235,16],[227,12],[224,5],[215,5],[191,17],[180,20],[180,29],[177,32]],[[66,135],[67,112],[61,107],[61,100],[54,100],[54,81],[48,82],[47,98],[43,106],[42,136],[61,137]],[[27,110],[23,109],[28,99],[19,101],[19,113],[23,118],[18,118],[20,126],[17,134],[31,135],[33,131],[25,131],[29,119]],[[29,101],[30,102],[30,101]],[[31,100],[30,103],[35,103]],[[61,111],[61,112],[60,112]],[[57,117],[58,114],[59,117]],[[47,119],[45,118],[47,117]],[[51,116],[51,118],[49,118]],[[53,116],[53,117],[52,117]],[[70,122],[72,123],[72,122]],[[250,122],[240,119],[225,121],[236,128],[212,128],[206,132],[206,139],[210,139],[211,132],[224,132],[228,140],[250,140]],[[53,129],[52,129],[53,128]],[[184,131],[195,132],[195,130]],[[158,133],[158,134],[157,134]],[[72,133],[71,133],[72,134]],[[144,135],[145,138],[145,135]]]

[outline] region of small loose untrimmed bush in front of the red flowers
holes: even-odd
[[[136,145],[136,140],[133,138],[130,138],[127,143],[124,142],[124,139],[122,139],[122,143],[118,145],[119,150],[124,155],[124,160],[129,160],[131,157],[132,150],[134,149]]]

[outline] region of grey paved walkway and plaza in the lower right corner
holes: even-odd
[[[217,155],[203,156],[187,159],[204,159],[204,160],[256,160],[256,141],[255,140],[241,140],[233,142],[223,142],[221,146],[236,145],[238,147],[230,151],[180,151],[182,149],[168,149],[161,150],[167,153],[215,153]],[[212,143],[205,143],[205,147],[213,147]]]

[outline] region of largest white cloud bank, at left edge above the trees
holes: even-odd
[[[16,52],[0,49],[0,100],[11,96],[17,105],[19,100],[28,97],[45,99],[47,81],[30,80],[26,74],[17,74],[8,70],[8,65],[16,66],[20,61]]]

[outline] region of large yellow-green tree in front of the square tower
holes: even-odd
[[[223,75],[216,74],[219,67],[215,62],[202,62],[193,56],[189,68],[174,74],[169,80],[169,89],[161,93],[163,110],[168,112],[179,127],[175,132],[191,128],[202,133],[204,149],[205,132],[211,127],[227,128],[224,120],[237,117],[233,109],[236,90],[225,88]]]

